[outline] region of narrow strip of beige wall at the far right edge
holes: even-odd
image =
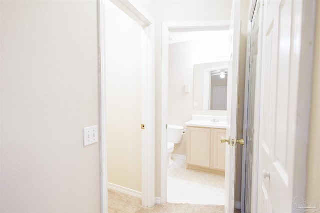
[[[314,45],[314,67],[312,76],[312,96],[311,96],[311,115],[310,132],[308,145],[308,164],[307,164],[307,188],[306,199],[320,207],[320,3],[316,6],[316,32]]]

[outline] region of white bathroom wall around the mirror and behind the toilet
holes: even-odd
[[[226,111],[194,110],[193,108],[194,64],[203,59],[227,56],[228,43],[223,46],[225,49],[221,51],[221,42],[212,38],[169,44],[168,124],[186,128],[184,122],[191,120],[192,114],[226,115]],[[191,85],[190,92],[184,91],[184,84]],[[186,138],[184,135],[181,143],[174,146],[173,153],[186,155]]]

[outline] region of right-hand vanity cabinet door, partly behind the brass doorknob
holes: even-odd
[[[225,170],[225,143],[220,142],[221,137],[226,137],[225,129],[212,129],[212,169]]]

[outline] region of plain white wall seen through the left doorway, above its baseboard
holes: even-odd
[[[141,192],[141,31],[107,1],[108,182]]]

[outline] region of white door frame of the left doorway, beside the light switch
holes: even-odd
[[[142,26],[142,205],[155,204],[155,158],[154,158],[154,21],[145,16],[130,0],[110,0],[124,13]],[[100,115],[100,172],[101,212],[108,209],[107,150],[106,150],[106,0],[98,0],[99,35],[99,115]]]

